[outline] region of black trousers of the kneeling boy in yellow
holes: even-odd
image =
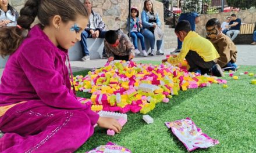
[[[204,61],[204,59],[202,59],[202,57],[193,50],[189,50],[189,53],[187,53],[185,59],[190,65],[190,72],[200,70],[201,74],[208,73],[210,68],[216,64],[214,61]]]

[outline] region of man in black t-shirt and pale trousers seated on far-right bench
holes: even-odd
[[[226,32],[226,35],[231,38],[233,41],[234,38],[237,37],[237,35],[240,32],[240,27],[241,27],[241,19],[236,17],[236,14],[231,14],[231,21],[229,23],[229,31]],[[232,35],[233,34],[233,35]],[[232,37],[231,37],[232,35]]]

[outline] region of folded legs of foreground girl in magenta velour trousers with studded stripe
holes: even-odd
[[[83,109],[63,110],[34,100],[0,118],[0,152],[74,152],[94,132]]]

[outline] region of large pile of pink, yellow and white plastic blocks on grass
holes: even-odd
[[[169,63],[152,65],[112,61],[105,67],[73,78],[76,91],[92,93],[93,111],[147,112],[165,103],[179,90],[202,88],[222,79],[188,72]]]

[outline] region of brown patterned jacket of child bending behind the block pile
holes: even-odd
[[[114,57],[113,54],[117,56],[129,56],[130,53],[135,53],[135,49],[133,46],[133,43],[131,43],[129,37],[123,33],[122,30],[118,30],[118,39],[119,39],[119,45],[117,47],[112,47],[106,40],[104,39],[104,47],[105,52],[108,55],[108,57]]]

